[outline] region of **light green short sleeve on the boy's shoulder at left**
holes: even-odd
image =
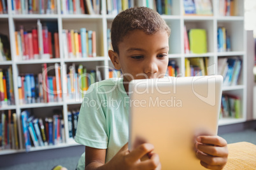
[[[92,84],[88,89],[89,93],[83,98],[75,141],[87,147],[106,149],[108,147],[106,116],[101,105],[102,98],[97,94],[96,88],[97,86]]]

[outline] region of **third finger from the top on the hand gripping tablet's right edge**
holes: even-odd
[[[224,166],[227,162],[227,157],[214,157],[206,155],[200,151],[196,153],[197,158],[210,166]]]

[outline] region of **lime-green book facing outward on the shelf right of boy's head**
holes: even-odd
[[[207,37],[204,29],[190,29],[188,39],[191,53],[207,53]]]

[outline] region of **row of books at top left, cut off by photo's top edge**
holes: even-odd
[[[56,0],[11,0],[15,14],[57,14]]]

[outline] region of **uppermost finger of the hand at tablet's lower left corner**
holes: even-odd
[[[148,152],[152,152],[153,145],[150,143],[143,143],[139,145],[139,147],[135,148],[126,156],[127,161],[136,162],[138,159],[143,157],[143,155],[148,154]]]

